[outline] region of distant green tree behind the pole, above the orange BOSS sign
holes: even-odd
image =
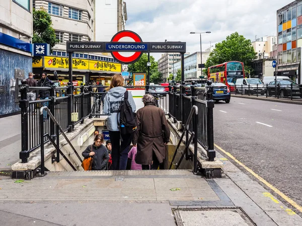
[[[131,63],[128,65],[128,71],[135,73],[135,72],[141,72],[146,73],[148,72],[147,67],[148,62],[148,55],[146,53],[143,53],[139,60],[137,60],[135,63]],[[158,71],[158,62],[155,61],[155,58],[153,56],[150,56],[150,78],[152,76],[152,73]]]

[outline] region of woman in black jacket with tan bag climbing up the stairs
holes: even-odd
[[[106,170],[109,161],[109,154],[107,148],[103,145],[104,137],[103,134],[96,135],[94,144],[89,145],[82,156],[87,159],[93,158],[92,170]]]

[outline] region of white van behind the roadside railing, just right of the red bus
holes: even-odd
[[[236,92],[245,94],[265,94],[265,86],[262,84],[260,79],[237,79],[236,81]]]

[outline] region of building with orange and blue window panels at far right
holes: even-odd
[[[302,47],[302,0],[277,10],[277,70],[300,83],[299,64]]]

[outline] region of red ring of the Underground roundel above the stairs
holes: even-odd
[[[133,46],[134,46],[134,44],[137,45],[137,43],[142,42],[142,40],[138,36],[138,34],[134,33],[133,31],[127,31],[127,30],[116,33],[112,37],[111,42],[120,42],[121,40],[131,41]],[[144,46],[142,44],[139,44],[139,45]],[[139,50],[136,52],[131,52],[129,54],[123,54],[123,53],[116,52],[116,51],[112,51],[111,53],[112,53],[112,56],[121,63],[133,63],[136,60],[138,60],[140,58],[140,56],[142,55],[142,52]]]

